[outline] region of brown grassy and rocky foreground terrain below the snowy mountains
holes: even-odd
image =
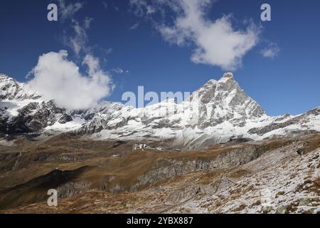
[[[133,143],[133,142],[132,142]],[[320,135],[132,151],[59,135],[1,147],[1,213],[319,213]],[[58,207],[48,207],[48,189]]]

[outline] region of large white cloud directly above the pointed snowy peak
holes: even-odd
[[[143,11],[146,1],[132,0],[137,12]],[[258,42],[260,29],[250,23],[243,30],[233,27],[231,16],[212,21],[206,17],[206,10],[212,0],[159,0],[157,3],[174,11],[173,25],[157,25],[166,41],[178,46],[194,45],[191,61],[219,66],[223,70],[235,70],[242,64],[242,58]],[[158,9],[158,8],[157,8]]]

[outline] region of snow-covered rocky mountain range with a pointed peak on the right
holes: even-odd
[[[182,103],[165,100],[146,108],[102,102],[87,110],[58,108],[23,83],[0,75],[0,134],[73,131],[97,140],[139,140],[194,149],[242,138],[261,140],[320,131],[320,107],[308,113],[270,117],[225,73]]]

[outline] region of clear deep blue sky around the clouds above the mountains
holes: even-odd
[[[163,6],[167,11],[160,16],[147,14],[141,5],[142,11],[138,11],[129,0],[65,0],[66,5],[77,2],[82,7],[75,14],[63,21],[59,14],[58,22],[49,22],[47,6],[57,1],[1,1],[0,72],[27,81],[26,75],[37,65],[39,56],[60,50],[68,51],[68,60],[85,71],[82,61],[90,52],[112,77],[114,90],[107,100],[121,101],[122,93],[137,92],[138,86],[157,93],[192,92],[228,70],[212,62],[195,63],[191,56],[196,43],[179,46],[161,34],[159,25],[172,28],[177,17],[169,6]],[[152,1],[146,3],[152,6]],[[263,3],[270,4],[272,21],[261,21]],[[233,73],[269,115],[299,114],[320,105],[319,10],[320,1],[316,0],[220,0],[203,11],[211,22],[232,14],[229,20],[234,31],[245,32],[249,24],[260,31]],[[92,19],[85,30],[87,50],[77,54],[65,38],[73,37],[74,21],[84,26],[86,18]],[[262,56],[262,50],[270,47],[279,49],[277,55]]]

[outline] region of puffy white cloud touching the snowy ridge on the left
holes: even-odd
[[[102,71],[97,58],[90,54],[85,56],[82,64],[87,66],[87,76],[84,76],[67,57],[67,51],[40,56],[28,86],[46,100],[54,100],[58,107],[66,109],[90,108],[110,95],[112,79]]]

